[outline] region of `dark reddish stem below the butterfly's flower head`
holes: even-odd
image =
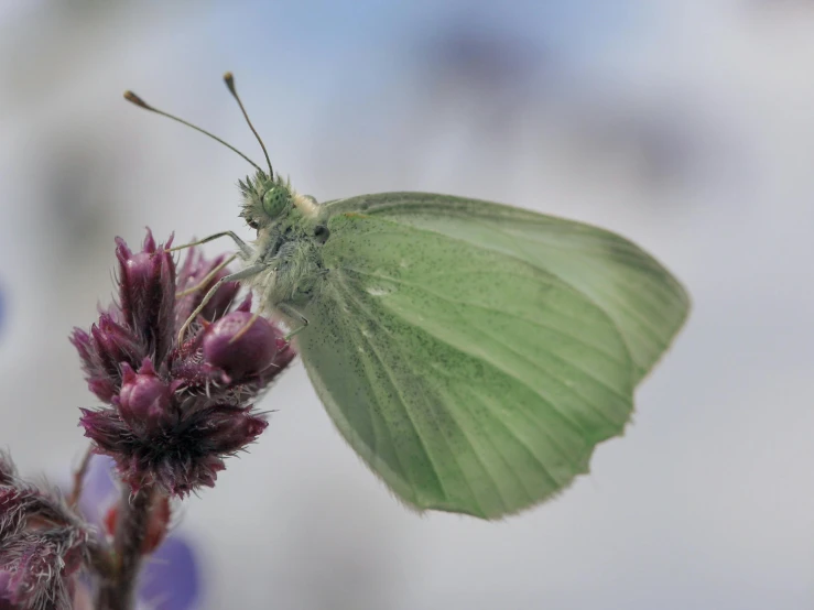
[[[97,610],[130,610],[141,567],[142,544],[150,521],[154,491],[144,487],[134,494],[122,492],[113,536],[113,571],[99,585]]]

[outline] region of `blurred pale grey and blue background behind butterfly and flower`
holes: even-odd
[[[67,341],[113,237],[234,229],[261,154],[319,200],[475,196],[600,225],[694,311],[633,424],[500,523],[401,506],[296,364],[184,502],[199,608],[814,607],[814,2],[0,1],[0,446],[65,473],[93,406]],[[228,243],[215,243],[216,253]]]

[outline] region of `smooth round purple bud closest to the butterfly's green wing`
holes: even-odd
[[[248,312],[232,312],[209,326],[204,335],[204,361],[223,369],[234,380],[265,370],[287,346],[280,330],[265,318],[251,318]]]

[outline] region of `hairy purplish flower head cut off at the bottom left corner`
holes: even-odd
[[[0,453],[0,608],[67,610],[90,532],[54,490],[21,480]]]

